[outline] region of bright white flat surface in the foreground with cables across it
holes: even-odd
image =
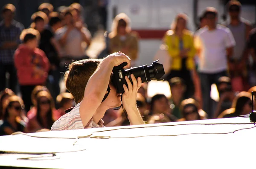
[[[253,167],[254,152],[250,141],[256,138],[256,128],[241,130],[231,134],[210,135],[194,134],[180,136],[147,136],[145,135],[177,135],[188,133],[223,133],[233,132],[242,128],[253,127],[253,124],[215,124],[201,125],[187,123],[248,123],[249,118],[215,119],[204,121],[177,122],[166,124],[147,124],[141,126],[128,126],[125,129],[95,132],[93,135],[111,136],[109,139],[80,138],[74,146],[75,139],[31,138],[24,135],[0,137],[0,151],[13,149],[17,144],[17,151],[31,149],[28,144],[37,144],[38,151],[56,149],[56,147],[73,147],[73,150],[86,148],[79,152],[56,153],[45,160],[17,160],[17,158],[35,157],[38,155],[0,155],[0,166],[29,166],[41,168],[111,168],[111,169],[137,169],[137,168],[249,168]],[[164,126],[160,126],[164,125]],[[159,127],[157,127],[159,126]],[[146,127],[128,129],[131,127]],[[86,130],[69,130],[60,132],[41,132],[32,135],[47,137],[73,137],[83,136],[93,131],[118,129],[108,127]],[[114,138],[140,136],[137,138]],[[48,148],[47,148],[48,147]],[[79,148],[77,148],[79,147]],[[35,150],[35,151],[36,151]],[[47,160],[48,159],[48,160]]]

